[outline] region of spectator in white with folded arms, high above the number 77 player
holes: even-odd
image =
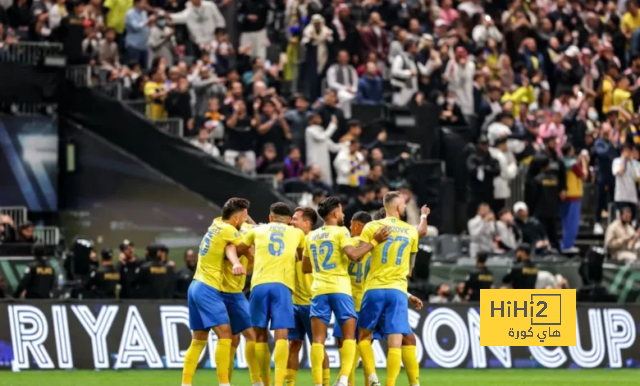
[[[393,104],[405,106],[418,92],[418,67],[414,55],[417,52],[417,44],[408,40],[404,44],[404,51],[400,52],[391,64],[391,86],[394,88]]]

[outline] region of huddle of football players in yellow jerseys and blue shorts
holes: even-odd
[[[271,205],[269,223],[255,225],[249,202],[232,198],[222,208],[200,245],[199,262],[189,287],[192,341],[185,355],[182,385],[190,386],[207,344],[218,337],[215,364],[220,386],[230,386],[233,358],[245,337],[252,386],[271,385],[269,330],[274,331],[275,385],[295,385],[304,336],[311,342],[315,386],[328,386],[329,360],[324,343],[332,315],[340,348],[340,374],[334,386],[354,386],[362,359],[367,386],[379,386],[372,340],[387,339],[387,386],[395,385],[404,364],[409,384],[419,385],[416,341],[408,304],[422,302],[407,293],[418,251],[426,234],[429,209],[417,229],[400,218],[404,198],[384,197],[375,219],[358,212],[351,231],[344,226],[340,200],[328,197],[312,208]],[[324,225],[312,230],[318,221]],[[252,271],[249,301],[242,293]]]

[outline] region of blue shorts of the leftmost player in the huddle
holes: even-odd
[[[189,328],[192,331],[207,331],[211,327],[229,324],[222,294],[210,285],[192,281],[187,292],[187,304]]]

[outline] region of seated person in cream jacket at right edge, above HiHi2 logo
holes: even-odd
[[[632,221],[633,212],[626,206],[620,210],[620,216],[607,227],[604,245],[615,261],[633,263],[638,260],[640,231],[636,232]]]

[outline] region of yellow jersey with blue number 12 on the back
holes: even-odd
[[[305,243],[305,256],[313,267],[313,297],[342,293],[351,295],[349,258],[342,253],[353,245],[351,234],[345,227],[323,226],[309,233]]]

